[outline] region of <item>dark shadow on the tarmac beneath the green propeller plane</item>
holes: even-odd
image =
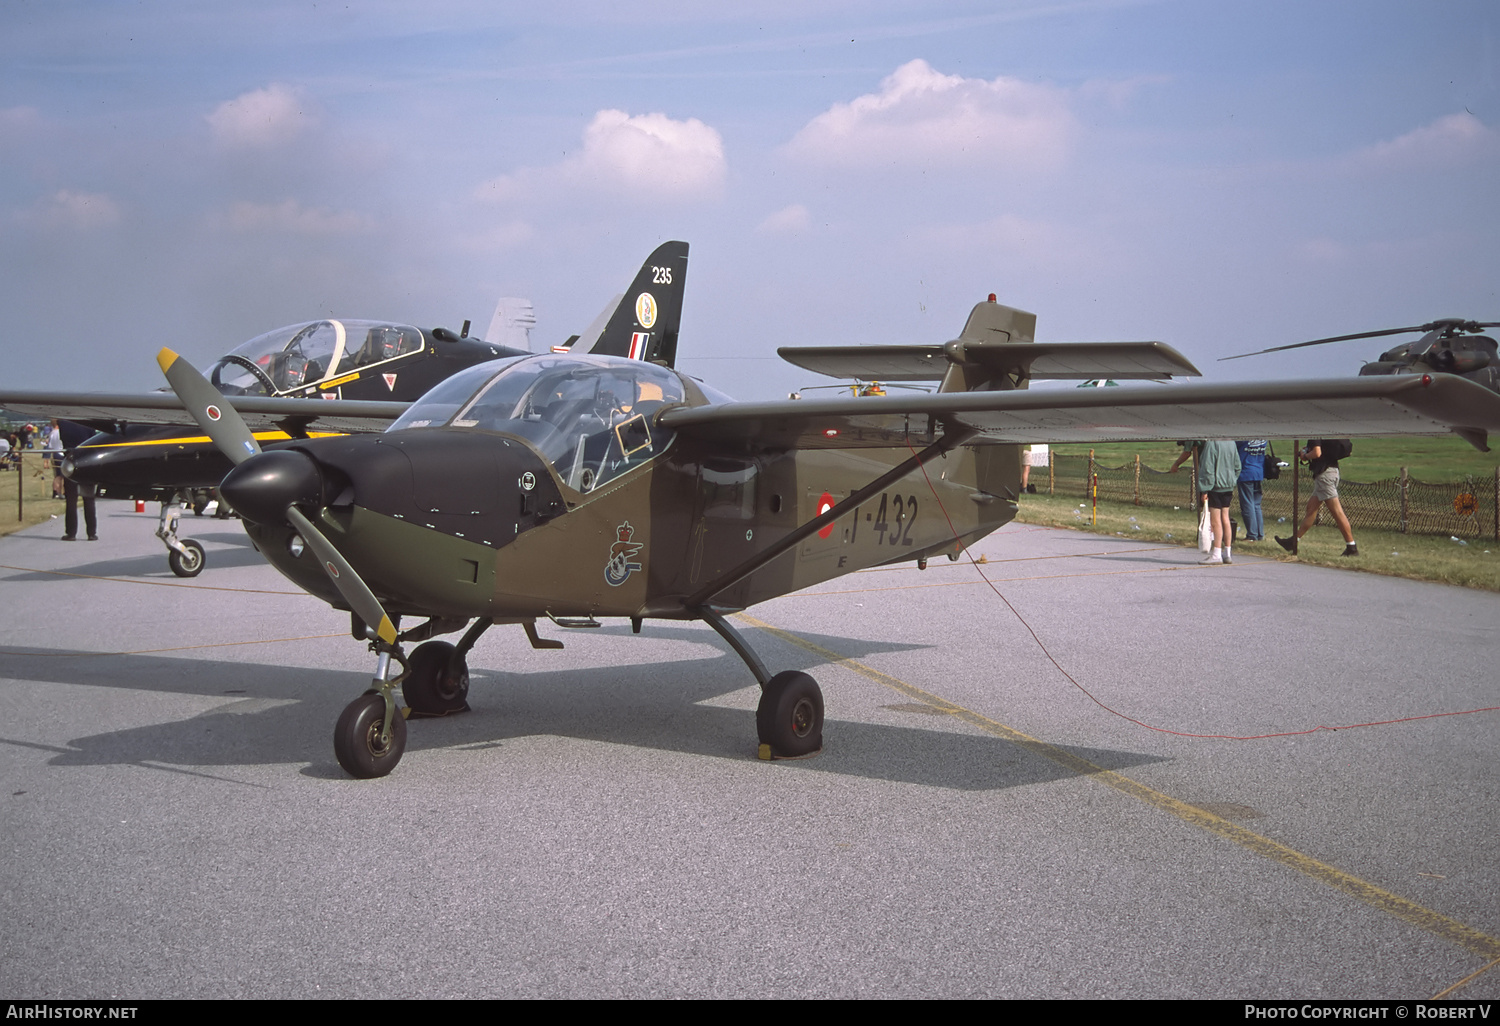
[[[693,633],[702,639],[704,632]],[[57,766],[142,765],[207,776],[216,776],[213,770],[222,766],[274,764],[310,764],[303,770],[306,776],[342,776],[333,760],[330,735],[344,704],[360,686],[360,675],[351,672],[152,656],[6,652],[0,654],[0,674],[16,680],[225,698],[222,705],[184,720],[81,736],[66,747],[0,735],[0,744],[52,752],[48,764]],[[507,675],[476,670],[471,676],[472,711],[410,722],[408,759],[436,748],[504,748],[516,738],[537,735],[754,759],[754,711],[705,705],[753,687],[744,666],[729,654],[584,672]],[[990,790],[1074,776],[1028,748],[976,734],[952,720],[933,717],[930,726],[840,720],[837,692],[831,696],[824,735],[824,754],[784,766],[958,790]],[[1066,750],[1106,768],[1160,760],[1131,752]]]

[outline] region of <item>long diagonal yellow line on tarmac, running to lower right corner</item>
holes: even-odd
[[[1148,806],[1154,806],[1162,812],[1167,812],[1185,824],[1198,826],[1212,834],[1218,834],[1220,837],[1230,840],[1256,855],[1262,855],[1275,862],[1281,862],[1282,866],[1293,868],[1305,876],[1310,876],[1314,880],[1318,880],[1320,884],[1326,884],[1332,888],[1336,888],[1364,902],[1365,904],[1380,912],[1384,912],[1386,915],[1392,915],[1401,920],[1402,922],[1414,926],[1434,936],[1443,938],[1444,940],[1449,940],[1450,944],[1473,951],[1474,954],[1482,956],[1485,958],[1500,958],[1500,938],[1492,938],[1488,933],[1482,933],[1456,920],[1450,920],[1446,915],[1442,915],[1440,912],[1434,912],[1432,909],[1424,908],[1416,902],[1408,902],[1407,898],[1392,894],[1390,891],[1382,890],[1374,884],[1359,879],[1358,876],[1352,876],[1335,866],[1329,866],[1328,862],[1320,862],[1311,855],[1304,855],[1302,852],[1293,848],[1287,848],[1281,842],[1275,842],[1251,830],[1245,830],[1244,826],[1232,824],[1230,820],[1222,819],[1221,816],[1215,816],[1214,813],[1198,808],[1197,806],[1190,806],[1188,802],[1179,801],[1172,795],[1166,795],[1154,788],[1148,788],[1143,783],[1137,783],[1136,780],[1131,780],[1130,777],[1125,777],[1113,770],[1106,770],[1104,766],[1095,765],[1088,759],[1072,754],[1071,752],[1064,752],[1062,748],[1050,746],[1046,741],[1040,741],[1030,736],[1029,734],[1022,734],[1016,728],[1005,726],[1004,723],[992,720],[987,716],[981,716],[980,712],[964,708],[956,702],[950,702],[948,699],[933,694],[932,692],[924,692],[922,688],[914,684],[908,684],[906,681],[891,676],[890,674],[882,674],[873,666],[866,666],[858,660],[840,656],[838,652],[824,648],[822,645],[810,642],[804,638],[800,638],[798,634],[794,634],[789,630],[772,627],[764,620],[756,620],[754,616],[748,616],[746,614],[736,614],[736,615],[740,616],[740,620],[750,624],[752,627],[759,627],[760,630],[776,638],[780,638],[789,645],[796,645],[798,648],[820,656],[822,658],[826,658],[831,663],[837,663],[838,666],[843,666],[844,669],[849,669],[858,674],[860,676],[864,676],[866,680],[874,681],[882,687],[888,687],[898,694],[916,699],[918,702],[930,705],[932,708],[940,712],[946,712],[954,718],[963,720],[964,723],[975,726],[984,730],[986,734],[992,734],[998,738],[1004,738],[1012,744],[1017,744],[1026,748],[1028,752],[1040,754],[1041,758],[1048,759],[1050,762],[1054,762],[1066,770],[1071,770],[1072,772],[1077,772],[1078,776],[1086,776],[1090,780],[1095,780],[1107,788],[1113,788],[1114,790],[1124,795],[1130,795],[1131,798],[1144,801]]]

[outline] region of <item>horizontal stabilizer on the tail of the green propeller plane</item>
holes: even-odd
[[[1164,342],[990,342],[948,345],[783,346],[783,360],[831,378],[861,381],[940,381],[954,363],[982,368],[987,376],[1017,374],[1032,381],[1090,378],[1160,380],[1200,376],[1192,363]]]

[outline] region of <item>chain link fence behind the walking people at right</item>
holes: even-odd
[[[1292,522],[1300,516],[1300,510],[1292,508],[1292,472],[1286,466],[1280,478],[1262,484],[1262,512],[1268,522],[1280,518]],[[1299,501],[1305,507],[1312,498],[1312,476],[1306,466],[1298,466],[1296,472]],[[1100,498],[1106,501],[1182,508],[1197,506],[1191,464],[1168,474],[1146,466],[1138,456],[1132,464],[1107,466],[1089,456],[1052,453],[1052,472],[1046,480],[1054,495],[1088,500],[1094,474],[1098,474]],[[1040,478],[1040,474],[1032,474],[1032,483],[1041,486]],[[1500,468],[1496,468],[1494,477],[1452,484],[1419,482],[1406,468],[1401,477],[1383,482],[1364,483],[1344,477],[1338,483],[1338,498],[1356,530],[1500,542]],[[1323,514],[1318,516],[1322,522]]]

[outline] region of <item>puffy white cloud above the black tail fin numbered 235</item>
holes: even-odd
[[[724,140],[696,117],[598,111],[584,129],[584,147],[552,168],[525,168],[494,178],[478,196],[494,201],[532,195],[552,183],[639,200],[704,200],[728,176]]]

